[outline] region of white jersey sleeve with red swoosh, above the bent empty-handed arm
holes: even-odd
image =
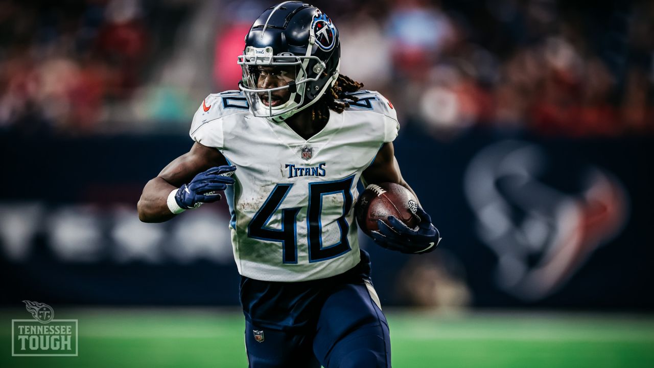
[[[198,111],[193,115],[191,129],[188,134],[201,145],[223,149],[224,135],[219,100],[217,94],[210,94],[202,101]]]

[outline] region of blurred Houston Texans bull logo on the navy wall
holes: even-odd
[[[627,221],[627,192],[617,177],[591,164],[577,175],[551,160],[538,145],[502,141],[480,151],[464,179],[479,236],[498,258],[498,286],[526,301],[565,285]],[[547,183],[553,166],[566,173],[557,177],[568,187],[581,189],[566,193]]]

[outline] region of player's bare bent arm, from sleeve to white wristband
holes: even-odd
[[[227,160],[220,151],[194,143],[188,153],[175,158],[145,185],[137,204],[139,219],[146,223],[160,223],[175,217],[167,203],[171,191],[189,183],[198,173],[225,165]]]

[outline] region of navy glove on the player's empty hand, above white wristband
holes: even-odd
[[[175,193],[175,202],[184,210],[198,208],[203,203],[220,200],[219,191],[234,183],[231,177],[235,166],[218,166],[196,175],[188,184],[182,185]]]

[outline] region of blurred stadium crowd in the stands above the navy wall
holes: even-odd
[[[182,132],[272,1],[0,0],[0,131]],[[654,131],[654,3],[314,1],[341,71],[404,124],[555,136]]]

